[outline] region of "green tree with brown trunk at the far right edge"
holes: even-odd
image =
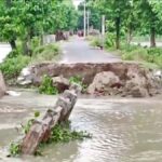
[[[138,17],[140,17],[140,28],[144,35],[150,35],[150,46],[156,46],[156,35],[160,33],[162,25],[162,2],[157,0],[134,0]]]

